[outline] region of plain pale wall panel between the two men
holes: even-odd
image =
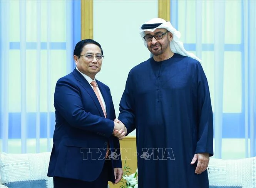
[[[110,87],[118,117],[129,71],[150,56],[139,35],[139,26],[158,17],[158,1],[97,0],[93,3],[93,36],[105,56],[96,79]]]

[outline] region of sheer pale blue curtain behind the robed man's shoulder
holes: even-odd
[[[172,0],[170,16],[185,49],[202,59],[214,111],[214,156],[255,156],[256,2]]]

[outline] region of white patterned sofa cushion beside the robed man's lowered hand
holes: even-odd
[[[232,160],[211,157],[208,176],[213,188],[256,188],[256,157]]]

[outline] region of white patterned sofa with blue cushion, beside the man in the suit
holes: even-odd
[[[9,188],[53,188],[47,176],[50,152],[10,154],[1,153],[1,183]]]

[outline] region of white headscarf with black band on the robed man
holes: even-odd
[[[143,24],[154,24],[154,23],[162,23],[162,24],[154,29],[144,29],[144,30],[141,29]],[[170,21],[165,21],[162,18],[153,18],[143,24],[139,28],[139,33],[140,33],[141,38],[144,41],[144,45],[146,47],[147,47],[147,42],[143,38],[145,36],[144,31],[154,32],[156,29],[166,29],[172,33],[172,40],[170,42],[170,48],[173,53],[178,53],[178,54],[181,54],[182,56],[189,56],[193,59],[196,59],[197,61],[199,61],[201,63],[201,59],[197,58],[197,56],[195,54],[186,51],[183,43],[181,41],[179,41],[179,38],[181,38],[181,33],[179,31],[177,31],[171,25]]]

